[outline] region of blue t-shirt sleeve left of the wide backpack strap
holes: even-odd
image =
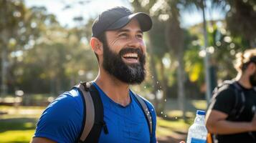
[[[55,142],[76,141],[82,126],[83,108],[68,93],[60,95],[44,110],[34,137],[45,137]]]

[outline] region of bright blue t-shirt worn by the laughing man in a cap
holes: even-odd
[[[152,104],[146,101],[153,119],[153,134],[150,137],[148,123],[133,92],[129,92],[131,103],[123,107],[113,102],[97,84],[104,107],[104,121],[108,134],[103,131],[99,142],[156,142],[156,113]],[[82,128],[83,103],[80,92],[72,89],[57,97],[37,123],[34,137],[46,137],[55,142],[75,142]]]

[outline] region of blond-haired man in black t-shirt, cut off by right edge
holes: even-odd
[[[256,142],[256,49],[237,54],[235,67],[237,78],[220,87],[213,97],[207,129],[216,134],[219,143]]]

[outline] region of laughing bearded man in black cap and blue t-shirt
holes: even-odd
[[[93,86],[103,102],[108,134],[100,133],[98,142],[156,142],[156,113],[146,105],[153,120],[150,134],[143,110],[129,89],[145,78],[146,44],[143,32],[151,29],[151,18],[132,14],[125,7],[103,11],[93,23],[90,45],[98,59],[98,77]],[[54,100],[40,117],[32,139],[37,142],[76,142],[82,129],[82,95],[77,89]]]

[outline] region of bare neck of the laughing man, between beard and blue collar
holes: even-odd
[[[110,97],[114,102],[127,106],[131,102],[129,96],[129,85],[121,82],[106,71],[100,71],[95,83],[105,94]]]

